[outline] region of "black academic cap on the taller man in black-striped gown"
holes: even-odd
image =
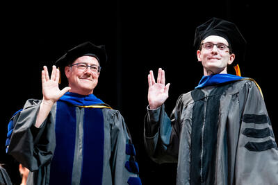
[[[236,24],[213,17],[197,26],[194,39],[195,48],[199,49],[202,40],[210,35],[217,35],[226,39],[231,46],[232,53],[236,54],[236,58],[244,60],[246,41]]]

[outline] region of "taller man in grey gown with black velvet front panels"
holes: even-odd
[[[243,59],[245,39],[235,24],[213,18],[195,32],[204,76],[182,94],[170,118],[165,71],[148,76],[145,147],[157,163],[177,162],[177,184],[277,184],[278,148],[261,90],[227,73]]]

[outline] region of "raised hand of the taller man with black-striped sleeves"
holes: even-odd
[[[149,71],[148,82],[149,108],[156,109],[160,107],[165,102],[165,100],[167,100],[170,83],[165,85],[165,71],[161,68],[158,69],[157,82],[154,80],[153,71]]]

